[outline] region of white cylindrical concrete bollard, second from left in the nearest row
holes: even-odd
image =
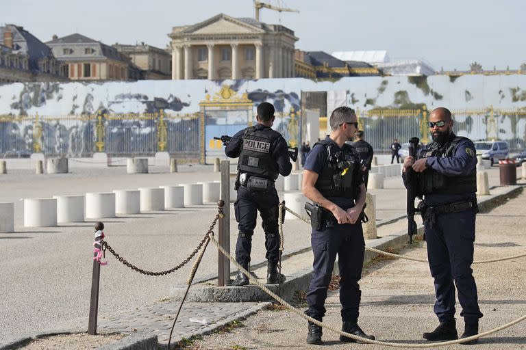
[[[57,200],[53,198],[25,198],[24,226],[57,226]]]

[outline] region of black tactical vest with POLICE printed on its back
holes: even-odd
[[[256,129],[255,126],[247,128],[242,136],[238,170],[269,180],[277,179],[279,167],[272,157],[277,137],[279,133],[270,128]]]

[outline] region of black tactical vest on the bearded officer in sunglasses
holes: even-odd
[[[457,145],[466,137],[451,134],[449,142],[440,146],[432,142],[419,154],[418,158],[427,157],[453,157]],[[418,178],[418,189],[421,193],[445,193],[445,194],[463,194],[477,191],[477,170],[473,170],[466,176],[445,176],[436,170],[427,168]]]

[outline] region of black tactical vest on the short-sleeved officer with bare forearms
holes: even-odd
[[[314,187],[325,198],[342,197],[356,199],[358,184],[362,178],[360,154],[349,144],[344,144],[341,150],[335,150],[327,139],[314,144],[322,145],[327,150],[327,161],[316,180]]]

